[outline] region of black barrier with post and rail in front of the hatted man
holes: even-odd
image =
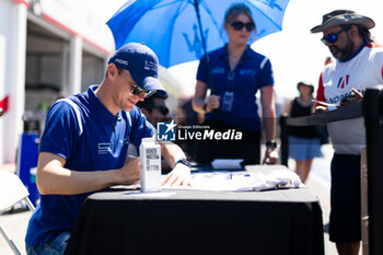
[[[383,91],[368,89],[361,103],[306,117],[280,117],[281,163],[288,165],[288,126],[323,125],[364,117],[367,165],[369,255],[383,254]]]

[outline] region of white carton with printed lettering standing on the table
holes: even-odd
[[[161,190],[161,147],[153,137],[141,141],[140,174],[142,193]]]

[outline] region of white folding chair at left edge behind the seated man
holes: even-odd
[[[0,212],[22,200],[26,202],[27,207],[31,210],[34,210],[35,207],[31,202],[28,195],[30,195],[28,192],[26,190],[24,184],[21,182],[18,175],[7,171],[0,171]],[[5,233],[1,223],[0,223],[0,232],[7,240],[13,253],[16,255],[21,255],[16,245]]]

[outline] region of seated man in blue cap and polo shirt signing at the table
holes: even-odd
[[[130,43],[111,57],[100,85],[50,107],[37,165],[42,199],[30,220],[27,254],[63,254],[86,196],[139,181],[140,161],[127,157],[128,144],[139,148],[154,128],[135,105],[153,91],[166,93],[156,77],[155,54]],[[189,185],[190,169],[179,147],[161,143],[161,153],[174,165],[163,185]]]

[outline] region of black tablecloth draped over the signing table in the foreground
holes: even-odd
[[[307,188],[141,194],[117,187],[85,200],[66,254],[323,255],[322,210]]]

